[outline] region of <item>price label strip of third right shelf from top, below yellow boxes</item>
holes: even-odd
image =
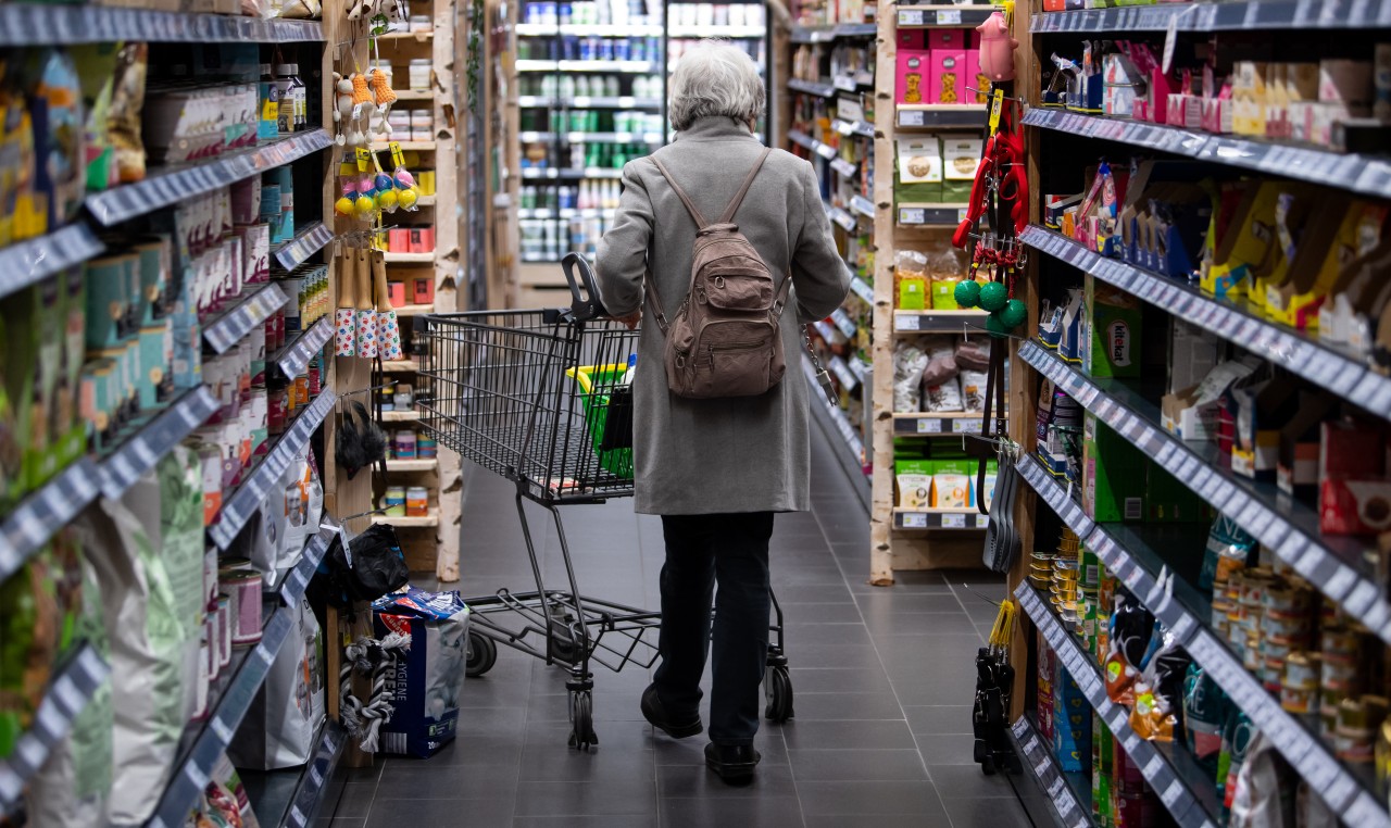
[[[1391,420],[1391,377],[1369,370],[1351,356],[1316,345],[1276,323],[1241,313],[1177,280],[1107,259],[1043,227],[1029,225],[1020,241]]]

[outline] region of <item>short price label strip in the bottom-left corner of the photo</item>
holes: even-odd
[[[86,707],[102,682],[111,672],[110,665],[89,644],[57,674],[39,703],[33,724],[14,746],[10,758],[0,760],[0,818],[13,813],[24,796],[24,786],[53,747],[68,735],[72,719]]]

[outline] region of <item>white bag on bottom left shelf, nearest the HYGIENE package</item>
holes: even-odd
[[[324,722],[323,655],[319,621],[300,598],[266,683],[227,747],[236,767],[274,771],[313,758],[314,735]]]

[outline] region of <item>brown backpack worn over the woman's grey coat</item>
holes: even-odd
[[[733,224],[771,152],[765,149],[758,157],[734,200],[714,224],[705,221],[662,161],[652,157],[698,228],[690,291],[670,323],[657,295],[651,264],[645,274],[647,298],[666,335],[666,384],[677,397],[755,397],[782,381],[787,370],[779,317],[791,278],[783,277],[778,285],[758,250]]]

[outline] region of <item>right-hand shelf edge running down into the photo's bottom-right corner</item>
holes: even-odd
[[[1143,543],[1125,525],[1093,523],[1036,459],[1024,458],[1020,472],[1131,594],[1143,601],[1184,644],[1252,724],[1270,738],[1295,771],[1320,790],[1335,811],[1344,814],[1348,825],[1391,824],[1387,813],[1366,789],[1366,781],[1341,765],[1309,726],[1281,708],[1241,660],[1207,630],[1210,608],[1202,607],[1205,598],[1198,597],[1196,590],[1184,582],[1171,583],[1160,554],[1142,548]],[[1020,590],[1029,587],[1021,583]]]

